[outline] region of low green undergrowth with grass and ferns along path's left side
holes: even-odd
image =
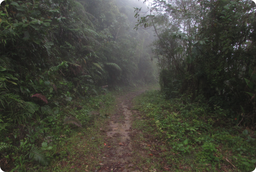
[[[115,100],[113,93],[109,92],[55,107],[42,116],[35,115],[22,125],[7,123],[3,126],[0,120],[1,169],[63,171],[61,169],[68,166],[67,171],[72,171],[74,164],[71,161],[74,158],[78,155],[89,156],[88,152],[79,149],[79,145],[87,144],[85,148],[90,150],[90,154],[98,153],[101,136],[95,127],[102,126],[100,122],[115,111]]]

